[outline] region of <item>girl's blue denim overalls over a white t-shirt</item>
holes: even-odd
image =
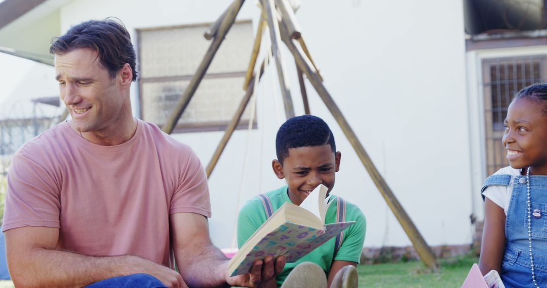
[[[539,218],[531,215],[532,255],[534,273],[539,287],[547,287],[547,176],[530,176],[530,208],[540,210]],[[526,176],[492,175],[486,178],[484,189],[491,185],[508,187],[513,193],[505,219],[505,253],[502,281],[505,287],[535,287],[528,251],[528,210]],[[486,241],[488,236],[485,238]]]

